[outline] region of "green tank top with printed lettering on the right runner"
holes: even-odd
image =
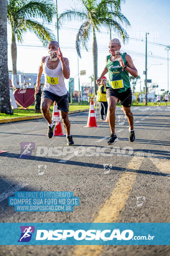
[[[122,59],[126,65],[125,55],[126,55],[126,52],[121,54]],[[125,69],[124,71],[122,71],[123,68],[121,67],[119,61],[111,61],[110,58],[111,58],[111,55],[108,55],[106,67],[108,68],[108,72],[109,72],[109,80],[106,88],[112,88],[111,81],[123,80],[124,87],[119,89],[113,89],[113,90],[115,90],[115,92],[118,92],[118,93],[125,92],[130,87],[129,73]]]

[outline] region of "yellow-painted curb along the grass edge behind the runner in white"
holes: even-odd
[[[68,114],[80,113],[80,112],[85,112],[85,111],[89,111],[89,108],[79,109],[79,110],[72,110],[72,111],[69,111]],[[6,119],[0,119],[0,124],[3,124],[3,123],[11,123],[11,122],[17,122],[17,121],[25,121],[25,120],[41,119],[41,118],[43,118],[42,115],[38,115],[38,116],[11,117],[11,118],[6,118]]]

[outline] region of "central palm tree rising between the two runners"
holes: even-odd
[[[101,26],[112,28],[119,36],[122,37],[123,42],[127,40],[127,32],[123,29],[122,24],[130,25],[127,18],[121,13],[121,3],[125,0],[80,0],[82,3],[82,9],[70,9],[66,10],[59,16],[59,21],[62,20],[80,20],[82,25],[79,28],[76,37],[76,49],[79,57],[80,43],[87,49],[87,42],[90,34],[93,35],[93,66],[94,66],[94,93],[97,90],[97,41],[96,31],[100,32]]]

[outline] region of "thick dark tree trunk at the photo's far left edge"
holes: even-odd
[[[13,113],[8,76],[7,0],[0,0],[0,113]]]

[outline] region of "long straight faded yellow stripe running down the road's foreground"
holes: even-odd
[[[139,170],[144,157],[133,157],[126,169]],[[94,223],[113,223],[119,212],[125,207],[127,198],[132,191],[136,180],[136,172],[125,172],[117,181],[110,197],[105,201],[99,210]],[[104,245],[78,245],[75,246],[74,256],[98,256],[102,255]]]

